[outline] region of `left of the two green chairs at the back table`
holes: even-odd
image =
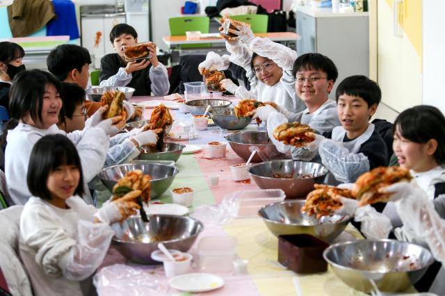
[[[186,31],[201,31],[209,33],[209,17],[171,17],[168,19],[170,35],[186,35]],[[211,47],[210,43],[181,45],[181,49]]]

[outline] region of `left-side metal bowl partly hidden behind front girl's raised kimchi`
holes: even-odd
[[[113,190],[115,183],[131,170],[142,170],[144,174],[151,176],[151,198],[161,196],[172,185],[176,174],[179,172],[177,167],[161,163],[124,163],[105,167],[97,176],[106,188]]]

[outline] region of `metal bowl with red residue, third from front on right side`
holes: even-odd
[[[327,174],[327,169],[320,163],[289,159],[257,163],[250,166],[249,172],[261,189],[280,188],[288,199],[305,199],[307,193],[314,190],[315,180]],[[277,177],[278,174],[283,176]]]

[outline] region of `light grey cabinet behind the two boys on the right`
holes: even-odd
[[[352,75],[369,76],[369,14],[332,13],[330,8],[312,10],[297,6],[298,55],[319,53],[337,66],[339,77],[330,93],[335,99],[337,85]]]

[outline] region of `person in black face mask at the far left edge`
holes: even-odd
[[[0,42],[0,106],[9,108],[9,89],[14,76],[25,70],[24,49],[14,42]]]

